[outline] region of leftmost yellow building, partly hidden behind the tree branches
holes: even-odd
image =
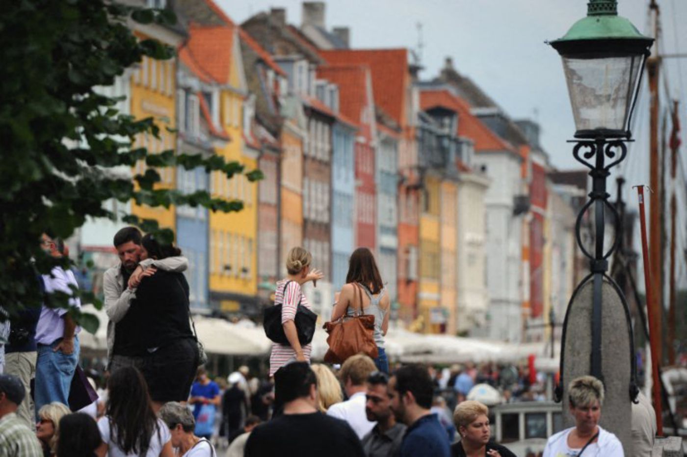
[[[137,38],[154,38],[177,47],[182,40],[178,32],[174,32],[167,27],[160,25],[142,25],[134,23],[133,30]],[[134,148],[145,147],[148,153],[156,154],[174,149],[176,147],[177,135],[170,133],[167,129],[176,128],[176,106],[174,96],[176,88],[177,60],[155,60],[144,56],[139,67],[133,71],[131,76],[131,115],[137,120],[154,118],[155,124],[159,126],[159,138],[155,138],[149,133],[140,134],[135,139]],[[144,174],[146,164],[139,161],[134,167],[134,175]],[[174,188],[176,186],[174,168],[162,168],[158,170],[161,181],[157,188]],[[176,230],[174,207],[150,208],[147,205],[131,204],[131,214],[140,219],[155,219],[160,227]]]

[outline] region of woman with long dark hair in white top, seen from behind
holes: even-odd
[[[167,425],[157,419],[146,380],[131,366],[112,373],[105,416],[98,421],[98,457],[174,457]]]

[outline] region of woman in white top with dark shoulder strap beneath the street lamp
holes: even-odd
[[[581,376],[570,382],[567,392],[575,426],[549,438],[543,457],[624,457],[616,435],[598,425],[603,383],[593,376]]]

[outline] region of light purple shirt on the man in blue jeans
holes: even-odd
[[[43,275],[43,283],[45,284],[45,292],[53,293],[60,291],[71,295],[72,290],[69,285],[78,287],[74,273],[65,271],[60,267],[55,267],[51,271],[51,275]],[[70,306],[81,307],[81,300],[76,298],[69,299]],[[43,305],[41,308],[41,317],[38,318],[38,326],[36,326],[36,343],[37,344],[53,344],[65,334],[65,321],[62,316],[69,311],[65,308],[48,308]],[[80,327],[76,327],[74,335],[80,331]]]

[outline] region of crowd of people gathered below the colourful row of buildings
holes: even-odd
[[[52,256],[68,254],[57,238],[46,234],[41,243]],[[227,457],[515,455],[491,442],[486,405],[466,397],[487,383],[506,401],[537,399],[541,379],[524,366],[493,364],[390,370],[390,300],[369,249],[350,257],[333,322],[374,316],[373,350],[311,365],[296,315],[310,308],[302,285],[323,274],[295,247],[275,287],[286,342],[273,344],[267,379],[241,366],[216,382],[192,326],[188,260],[135,227],[117,232],[113,244],[120,263],[104,274],[108,361],[100,386],[78,366],[80,328],[52,303],[60,291],[80,307],[71,271],[56,267],[38,277],[42,308],[0,326],[7,340],[0,347],[0,456],[215,457],[225,447]],[[602,383],[574,379],[569,392],[576,426],[552,436],[543,455],[622,456],[618,439],[598,426]]]

